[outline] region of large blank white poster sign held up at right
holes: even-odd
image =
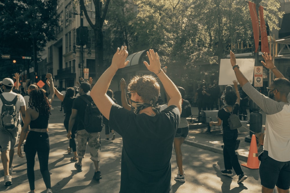
[[[254,65],[255,59],[236,59],[237,64],[240,67],[240,71],[244,74],[244,76],[249,80],[249,82],[253,83],[253,73],[254,73]],[[232,85],[233,80],[237,80],[235,76],[235,72],[233,71],[233,67],[231,66],[230,59],[221,59],[220,60],[220,76],[219,76],[219,85]]]

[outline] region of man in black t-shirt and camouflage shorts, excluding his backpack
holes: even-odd
[[[68,123],[68,139],[71,138],[72,135],[72,128],[75,124],[75,120],[78,120],[77,123],[77,134],[76,139],[78,142],[78,162],[75,163],[75,168],[78,172],[82,171],[82,165],[81,161],[84,158],[84,155],[86,153],[86,145],[89,144],[90,148],[90,159],[93,160],[95,165],[95,174],[93,179],[99,180],[102,179],[100,168],[99,168],[99,149],[100,149],[100,132],[95,133],[89,133],[86,131],[86,128],[84,126],[84,119],[85,119],[85,109],[87,106],[87,103],[82,99],[85,98],[88,101],[92,102],[93,99],[90,95],[88,95],[89,91],[91,89],[91,85],[88,82],[82,82],[79,85],[79,94],[80,96],[77,97],[73,102],[72,107],[72,114],[70,115],[70,120]]]

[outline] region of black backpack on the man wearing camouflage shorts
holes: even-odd
[[[104,126],[103,115],[95,105],[94,101],[90,102],[84,96],[80,96],[80,98],[87,103],[83,122],[85,130],[88,133],[101,132]]]

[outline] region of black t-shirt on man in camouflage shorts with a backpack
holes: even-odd
[[[90,95],[86,95],[86,94],[81,95],[74,100],[72,109],[77,110],[77,117],[76,117],[76,119],[78,120],[77,130],[85,129],[83,122],[85,120],[85,110],[86,110],[87,103],[83,99],[81,99],[83,97],[85,97],[90,102],[93,101],[92,97]]]

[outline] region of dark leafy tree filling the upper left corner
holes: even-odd
[[[32,56],[37,71],[37,54],[55,39],[56,6],[57,0],[0,0],[0,52],[16,57]],[[29,66],[26,63],[28,72]]]

